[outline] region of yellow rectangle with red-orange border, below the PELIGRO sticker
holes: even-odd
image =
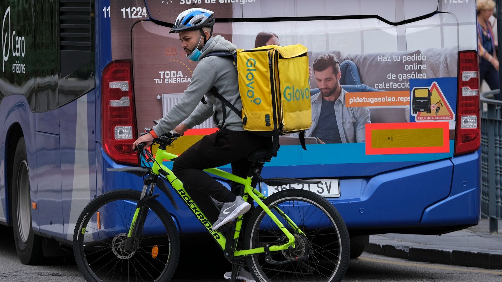
[[[366,155],[450,152],[449,122],[366,123]]]

